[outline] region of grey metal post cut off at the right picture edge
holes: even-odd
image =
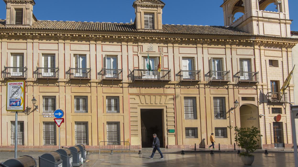
[[[298,167],[297,137],[296,137],[295,119],[298,119],[298,106],[291,105],[291,121],[292,121],[292,133],[293,133],[293,144],[294,144],[294,160],[295,160],[295,167]]]

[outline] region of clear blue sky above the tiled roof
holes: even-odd
[[[162,0],[163,24],[224,25],[223,0]],[[135,13],[134,0],[35,0],[33,13],[38,20],[99,21],[127,23]],[[6,18],[4,1],[0,0],[0,18]],[[112,6],[114,10],[112,10]],[[298,1],[289,0],[291,30],[298,31]],[[276,6],[267,10],[273,11]],[[115,10],[116,9],[116,10]]]

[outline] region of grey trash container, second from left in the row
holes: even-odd
[[[62,167],[61,156],[57,151],[42,154],[38,157],[39,166],[42,167]]]

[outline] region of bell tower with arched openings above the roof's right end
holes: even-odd
[[[266,11],[269,4],[277,11]],[[224,0],[224,25],[255,35],[291,37],[288,0]],[[235,20],[235,13],[243,16]]]

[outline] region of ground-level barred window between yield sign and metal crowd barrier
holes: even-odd
[[[75,145],[89,145],[88,122],[75,122]]]

